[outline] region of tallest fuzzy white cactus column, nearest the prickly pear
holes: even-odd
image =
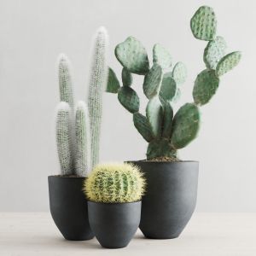
[[[108,76],[108,67],[106,65],[107,48],[108,32],[104,27],[100,27],[94,38],[88,93],[92,168],[99,162],[99,143],[102,124],[102,93],[103,90],[105,90]]]

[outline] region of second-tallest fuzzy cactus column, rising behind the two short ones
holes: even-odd
[[[73,80],[71,75],[71,64],[67,56],[61,54],[58,58],[59,87],[61,102],[67,102],[73,109]]]

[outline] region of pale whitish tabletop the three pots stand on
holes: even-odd
[[[1,256],[256,255],[254,213],[196,213],[177,239],[143,239],[138,231],[129,246],[119,250],[103,249],[96,239],[65,241],[45,212],[0,213],[0,227]]]

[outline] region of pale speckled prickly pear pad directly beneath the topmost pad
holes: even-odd
[[[226,48],[227,44],[222,37],[217,37],[207,44],[204,50],[204,62],[207,68],[216,68],[218,61],[225,55]]]

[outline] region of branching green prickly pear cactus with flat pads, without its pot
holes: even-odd
[[[160,44],[155,44],[153,66],[149,67],[146,49],[133,37],[118,44],[114,51],[123,66],[123,84],[120,86],[113,69],[109,68],[107,91],[117,93],[119,102],[133,114],[137,131],[148,142],[148,160],[177,160],[177,149],[186,147],[197,136],[201,119],[199,107],[209,102],[216,93],[219,77],[241,59],[239,51],[226,55],[224,38],[216,36],[217,19],[212,8],[202,6],[198,9],[190,27],[195,38],[208,41],[203,56],[207,68],[195,79],[194,102],[185,103],[175,115],[172,105],[177,101],[180,85],[187,75],[183,62],[177,62],[172,68],[171,55]],[[146,115],[139,113],[140,99],[131,88],[131,73],[144,76],[143,92],[148,98]]]

